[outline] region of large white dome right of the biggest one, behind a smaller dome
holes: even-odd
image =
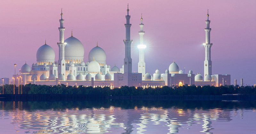
[[[88,55],[89,62],[93,61],[93,58],[98,63],[105,64],[107,56],[105,51],[97,45],[96,47],[92,48]]]

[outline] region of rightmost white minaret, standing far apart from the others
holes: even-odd
[[[204,28],[204,31],[205,31],[204,79],[206,78],[205,76],[207,74],[212,75],[212,61],[211,61],[211,47],[212,47],[212,43],[210,43],[210,33],[211,33],[212,29],[210,28],[210,22],[211,21],[209,20],[209,13],[208,13],[208,10],[207,10],[207,20],[205,20],[206,28]]]

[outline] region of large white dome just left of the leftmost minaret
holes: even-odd
[[[36,61],[37,62],[54,62],[55,52],[47,44],[44,44],[40,48],[38,48],[36,52]]]

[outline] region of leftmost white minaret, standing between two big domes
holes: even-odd
[[[59,27],[60,42],[57,43],[58,46],[59,46],[58,74],[63,74],[65,76],[66,64],[65,64],[65,49],[64,48],[66,46],[66,43],[64,43],[65,27],[63,27],[64,19],[62,19],[62,16],[63,16],[62,8],[61,8],[60,16],[61,16],[61,18],[60,18],[60,27]]]

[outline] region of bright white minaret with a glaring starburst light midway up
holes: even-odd
[[[146,63],[145,63],[145,60],[144,60],[144,50],[146,48],[146,45],[144,44],[144,34],[145,32],[143,31],[143,27],[144,27],[144,24],[142,23],[142,13],[141,13],[141,18],[140,18],[140,32],[139,32],[139,35],[140,35],[140,44],[138,45],[138,48],[139,48],[139,63],[138,63],[138,73],[142,73],[142,79],[144,80],[144,75],[146,73]]]

